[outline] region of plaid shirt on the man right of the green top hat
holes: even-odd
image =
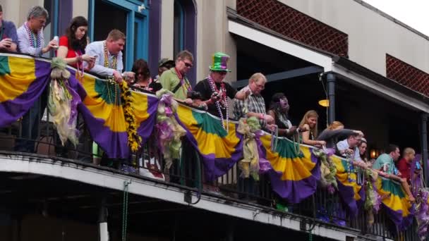
[[[241,89],[241,92],[246,92],[247,89],[250,90],[250,95],[247,97],[247,108],[248,112],[253,113],[263,113],[265,114],[265,100],[260,94],[253,94],[251,93],[252,90],[249,86],[244,87]],[[246,118],[246,113],[244,113],[244,101],[234,99],[234,117],[238,120],[240,118]],[[267,124],[264,120],[259,121],[262,127],[265,127]]]

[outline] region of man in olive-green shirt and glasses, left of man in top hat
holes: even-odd
[[[188,92],[192,91],[191,82],[186,78],[186,73],[193,66],[193,55],[190,51],[183,50],[176,56],[176,66],[164,71],[159,82],[163,89],[173,92],[176,99],[181,99],[187,103],[192,103],[192,99],[187,99]]]

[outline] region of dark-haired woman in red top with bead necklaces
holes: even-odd
[[[68,65],[78,69],[76,71],[77,78],[83,77],[83,61],[88,63],[88,69],[91,69],[95,63],[95,57],[85,54],[87,30],[88,22],[86,18],[78,16],[71,20],[70,26],[67,27],[66,35],[59,38],[59,48],[56,56],[64,58]]]

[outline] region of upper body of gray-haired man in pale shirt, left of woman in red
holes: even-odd
[[[27,21],[17,30],[18,49],[21,53],[38,57],[58,47],[58,42],[54,39],[44,47],[43,27],[47,18],[49,18],[48,11],[42,6],[30,8]]]

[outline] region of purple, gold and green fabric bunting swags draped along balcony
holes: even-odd
[[[79,82],[75,78],[75,70],[68,70],[71,72],[68,86],[82,100],[78,111],[90,130],[92,140],[109,158],[127,159],[131,153],[121,87],[92,75],[85,75]],[[50,72],[50,62],[47,60],[0,54],[0,127],[11,125],[30,109],[51,81]],[[154,132],[154,128],[159,98],[155,94],[131,91],[128,104],[137,133],[142,137],[140,144],[143,144],[150,135],[158,133]],[[186,131],[186,139],[198,152],[206,180],[226,174],[243,158],[244,137],[236,131],[238,122],[230,121],[229,132],[226,132],[219,118],[180,104],[174,116]],[[266,170],[274,192],[289,203],[298,203],[310,197],[320,180],[320,160],[313,152],[315,147],[280,137],[277,147],[272,150],[271,139],[267,133],[255,136],[259,159],[270,163]],[[344,206],[356,214],[365,200],[364,187],[356,183],[355,173],[348,173],[345,159],[338,156],[330,158],[337,171],[335,177],[339,196]],[[387,197],[382,199],[382,204],[389,210],[394,223],[401,227],[409,225],[411,206],[406,202],[401,186],[380,178],[374,186],[381,197]]]

